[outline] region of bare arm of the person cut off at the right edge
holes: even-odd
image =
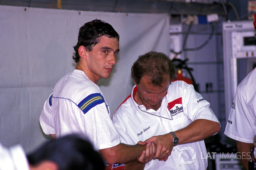
[[[246,170],[248,170],[248,161],[250,161],[251,148],[254,148],[253,144],[248,144],[240,141],[236,141],[237,154],[240,162]],[[249,152],[249,153],[248,153]],[[254,155],[252,154],[252,161],[255,161]]]

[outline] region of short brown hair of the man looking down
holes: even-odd
[[[133,63],[131,70],[136,84],[140,83],[143,76],[147,76],[152,85],[162,86],[166,75],[170,76],[170,82],[175,76],[175,67],[169,57],[156,51],[140,55]]]

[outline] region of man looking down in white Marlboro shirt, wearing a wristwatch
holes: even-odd
[[[210,103],[192,85],[172,82],[174,75],[165,54],[151,51],[139,56],[132,66],[132,94],[114,113],[113,123],[122,143],[156,144],[155,160],[144,163],[145,169],[203,170],[207,168],[207,159],[201,159],[207,156],[203,139],[217,133],[220,123]],[[139,167],[137,162],[127,164],[133,166]]]

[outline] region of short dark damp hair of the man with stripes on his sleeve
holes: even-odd
[[[80,59],[80,55],[78,54],[78,48],[80,46],[84,46],[87,51],[91,51],[92,46],[95,46],[99,42],[99,38],[103,35],[106,35],[108,38],[117,38],[119,41],[119,34],[115,29],[100,19],[94,19],[80,27],[78,41],[76,46],[74,46],[75,53],[72,57],[75,62],[77,63]]]

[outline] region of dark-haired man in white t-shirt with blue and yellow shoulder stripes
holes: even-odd
[[[119,35],[101,20],[85,23],[79,30],[74,47],[76,69],[62,77],[44,104],[40,124],[45,134],[59,138],[71,133],[82,134],[100,152],[110,169],[122,168],[138,159],[152,159],[156,146],[126,145],[110,119],[109,108],[99,86],[100,78],[109,78],[119,52]],[[144,144],[144,143],[143,143]],[[140,157],[140,158],[139,158]]]

